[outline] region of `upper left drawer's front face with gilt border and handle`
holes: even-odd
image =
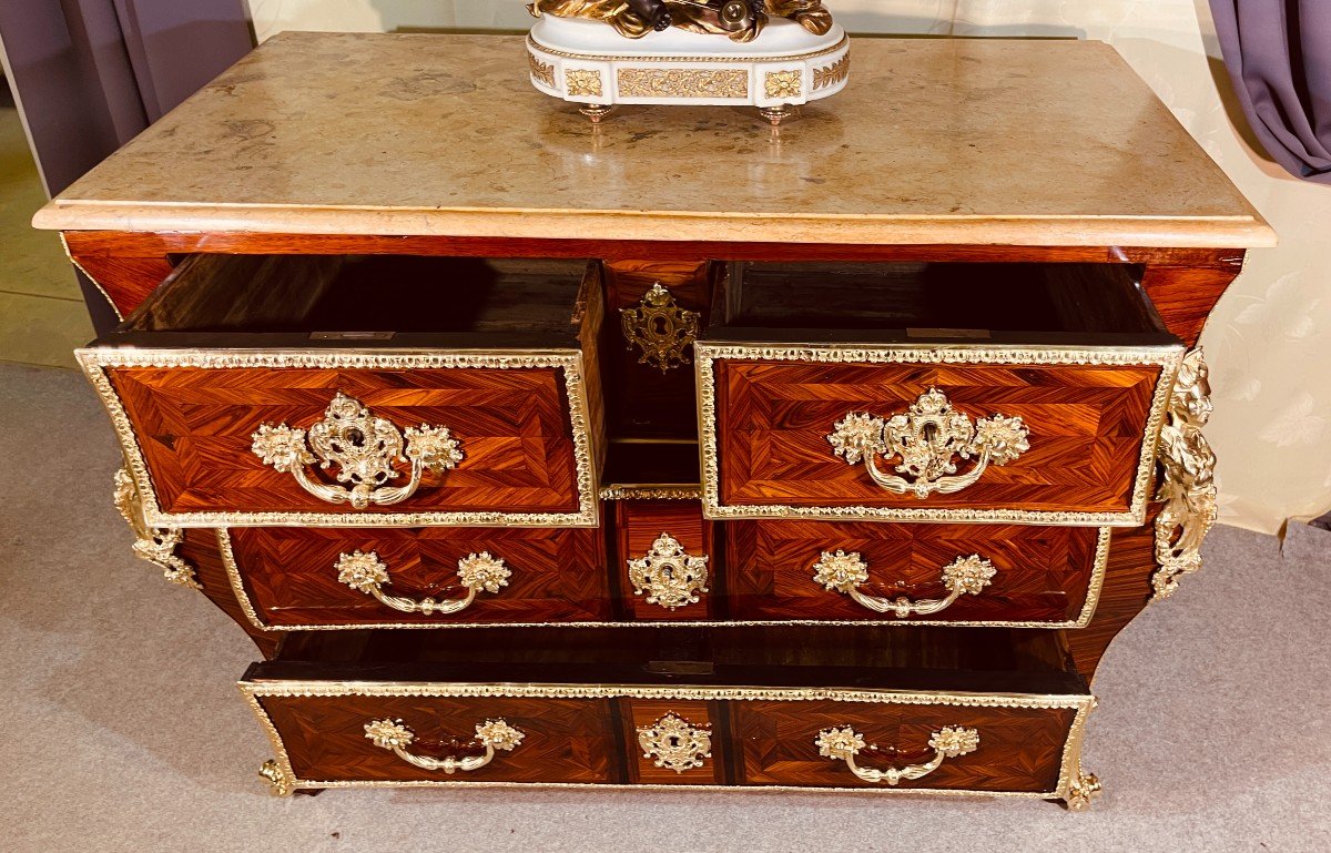
[[[79,357],[154,526],[596,523],[576,350]]]

